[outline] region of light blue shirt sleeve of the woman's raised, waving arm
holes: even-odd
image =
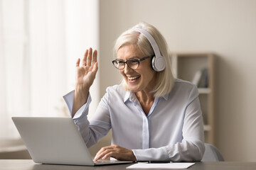
[[[72,116],[72,109],[74,103],[75,91],[63,96],[65,102],[67,103],[68,110],[70,111],[70,116]],[[75,125],[78,127],[80,134],[82,135],[83,140],[87,147],[92,147],[95,145],[102,137],[107,135],[107,132],[110,130],[110,116],[107,109],[107,94],[100,101],[99,106],[95,115],[98,116],[98,119],[88,120],[87,115],[89,112],[89,106],[92,99],[89,94],[87,98],[87,103],[85,103],[73,116]]]

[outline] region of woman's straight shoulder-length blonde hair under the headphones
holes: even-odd
[[[154,26],[151,26],[149,23],[142,22],[125,31],[119,36],[119,38],[117,38],[114,45],[114,52],[117,53],[117,50],[124,45],[135,45],[145,56],[154,55],[154,50],[151,47],[149,40],[143,34],[137,32],[137,30],[134,30],[134,28],[142,28],[151,34],[159,47],[161,55],[164,57],[164,61],[166,62],[165,69],[161,72],[156,72],[156,86],[152,91],[154,96],[160,97],[164,96],[165,94],[169,94],[174,86],[174,75],[171,71],[169,47],[163,35],[161,35],[159,30],[157,30]],[[127,84],[124,79],[122,84],[124,84],[125,89],[127,89]]]

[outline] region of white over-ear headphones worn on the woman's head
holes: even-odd
[[[142,33],[149,40],[149,42],[154,50],[155,56],[151,60],[153,69],[156,72],[161,72],[162,70],[164,70],[164,68],[165,68],[164,57],[161,55],[159,47],[156,44],[156,41],[154,40],[152,35],[150,35],[149,32],[147,32],[146,30],[144,30],[142,28],[134,28],[134,30],[136,30],[139,33]]]

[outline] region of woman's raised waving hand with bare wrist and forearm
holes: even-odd
[[[80,66],[80,59],[75,63],[75,97],[72,116],[87,102],[90,86],[92,86],[97,73],[97,50],[92,54],[92,48],[85,50]]]

